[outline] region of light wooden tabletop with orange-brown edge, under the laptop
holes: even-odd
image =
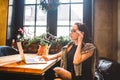
[[[29,57],[37,57],[36,54],[25,54]],[[51,55],[49,55],[51,56]],[[51,68],[58,60],[51,60],[45,64],[21,64],[20,55],[0,57],[0,71],[19,72],[42,75]]]

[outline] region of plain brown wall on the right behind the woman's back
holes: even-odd
[[[99,55],[117,60],[117,0],[94,1],[94,41]]]

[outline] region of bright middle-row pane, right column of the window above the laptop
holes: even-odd
[[[37,6],[37,21],[36,25],[47,25],[47,13],[43,12],[39,6]]]

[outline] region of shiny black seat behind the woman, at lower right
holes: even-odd
[[[120,63],[105,57],[99,59],[97,80],[120,80]],[[102,77],[101,77],[102,76]],[[103,78],[103,79],[101,79]]]

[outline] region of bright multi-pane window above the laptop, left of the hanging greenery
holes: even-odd
[[[24,30],[25,37],[39,36],[46,32],[47,13],[40,8],[39,0],[25,0],[24,4]]]

